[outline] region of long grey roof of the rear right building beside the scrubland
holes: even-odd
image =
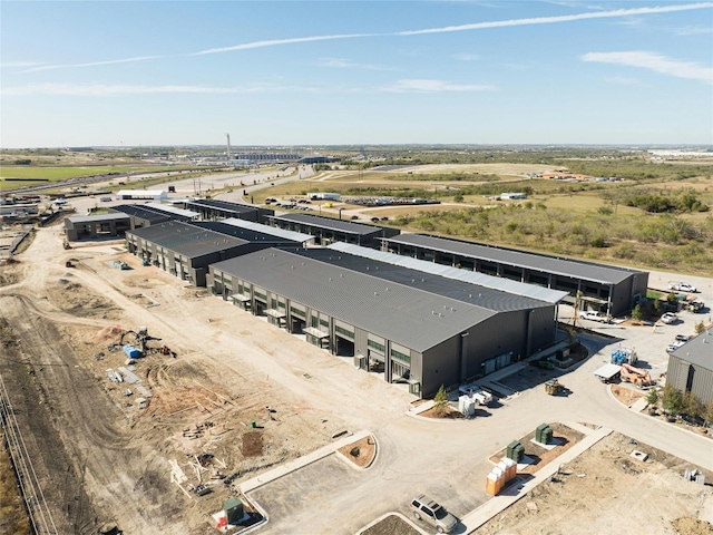
[[[458,254],[466,257],[526,268],[543,273],[570,276],[602,284],[618,284],[632,275],[643,274],[638,270],[628,270],[613,265],[595,264],[580,260],[548,256],[510,249],[496,247],[471,242],[460,242],[424,234],[400,234],[383,239],[385,243],[400,243],[419,247]]]

